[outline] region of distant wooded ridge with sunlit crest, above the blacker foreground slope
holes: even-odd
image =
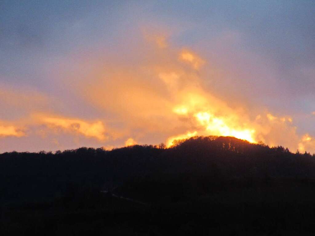
[[[203,193],[210,184],[220,187],[280,179],[312,182],[315,158],[283,147],[216,136],[177,141],[168,149],[135,145],[112,151],[82,147],[55,154],[0,155],[3,201],[54,199],[69,189],[111,190],[135,182],[146,185],[151,181],[163,189],[167,189],[164,183],[169,188],[191,186]]]

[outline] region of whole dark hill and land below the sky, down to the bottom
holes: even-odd
[[[51,227],[49,221],[59,225],[57,216],[64,217],[66,223],[60,227],[65,229],[71,222],[64,214],[74,214],[73,219],[86,225],[84,230],[72,228],[72,233],[88,232],[99,222],[104,233],[117,233],[123,225],[123,234],[128,235],[151,235],[153,229],[159,232],[153,235],[225,235],[227,225],[232,225],[227,235],[245,231],[295,235],[287,230],[301,233],[301,227],[307,235],[315,212],[314,157],[218,136],[177,140],[170,148],[134,145],[112,151],[81,147],[56,153],[3,153],[2,230],[8,233],[20,225],[32,231],[35,225],[29,216],[40,221],[39,233]],[[107,223],[118,221],[119,227],[105,227],[100,210],[109,214]],[[209,216],[209,210],[215,215]],[[52,211],[57,218],[51,218]],[[17,220],[17,214],[24,220]],[[94,220],[84,218],[89,214]],[[186,214],[191,214],[190,221]],[[168,217],[173,217],[173,225]],[[160,224],[169,230],[157,230]],[[50,233],[62,234],[55,229]]]

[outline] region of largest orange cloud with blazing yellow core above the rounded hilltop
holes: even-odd
[[[209,93],[203,86],[209,73],[200,70],[205,60],[196,52],[170,45],[163,50],[143,45],[136,49],[132,60],[106,60],[108,65],[93,61],[95,70],[84,76],[89,80],[78,82],[80,95],[113,114],[111,122],[122,124],[120,138],[150,134],[164,137],[170,146],[175,139],[192,135],[223,135],[291,150],[301,143],[291,117],[257,114]],[[205,70],[216,68],[209,65]],[[215,82],[225,75],[211,76]],[[315,151],[315,145],[309,147]]]

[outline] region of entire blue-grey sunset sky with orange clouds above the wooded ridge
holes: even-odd
[[[315,152],[314,1],[0,2],[0,153],[195,135]]]

